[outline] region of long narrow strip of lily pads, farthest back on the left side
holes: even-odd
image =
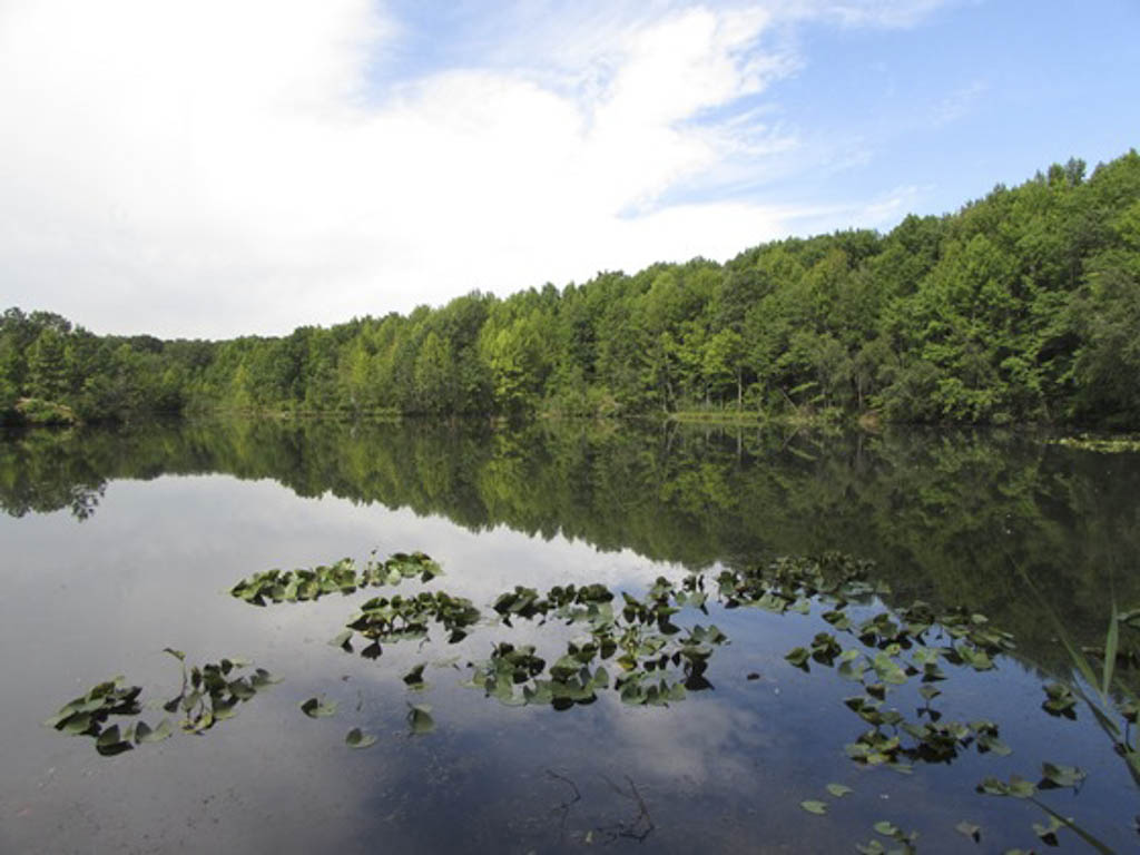
[[[264,570],[242,579],[229,593],[253,605],[264,605],[267,600],[296,603],[319,600],[326,594],[353,594],[358,588],[399,585],[405,579],[425,583],[441,572],[439,564],[422,552],[397,552],[385,561],[369,559],[359,571],[352,559],[298,570]]]

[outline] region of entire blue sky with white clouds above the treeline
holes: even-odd
[[[285,334],[1140,145],[1137,0],[0,0],[0,309]]]

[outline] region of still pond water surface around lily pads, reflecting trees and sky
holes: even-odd
[[[1138,791],[1109,736],[1083,706],[1076,720],[1041,708],[1072,659],[1025,583],[1077,644],[1104,643],[1114,602],[1140,605],[1138,455],[1016,433],[192,423],[9,438],[0,507],[2,852],[853,852],[872,838],[890,848],[871,828],[880,820],[919,832],[920,852],[1041,849],[1037,806],[975,785],[1036,781],[1043,760],[1088,774],[1043,804],[1119,852],[1140,844]],[[226,593],[261,570],[363,562],[373,548],[431,554],[445,576],[422,587],[488,619],[457,644],[433,632],[368,660],[327,641],[391,591],[261,609]],[[462,685],[496,642],[553,662],[581,637],[580,625],[489,620],[514,585],[641,596],[659,576],[711,579],[832,549],[876,562],[883,593],[853,614],[922,598],[1015,635],[993,670],[944,666],[934,703],[945,722],[993,720],[1009,756],[966,746],[911,774],[849,759],[868,724],[842,699],[860,686],[783,658],[821,632],[860,646],[817,602],[775,614],[714,595],[708,616],[683,610],[679,626],[715,624],[730,643],[710,659],[710,686],[668,707],[612,689],[567,710],[506,707]],[[117,674],[144,699],[177,694],[168,645],[194,662],[244,657],[283,682],[202,735],[116,757],[41,726]],[[417,663],[422,691],[401,679]],[[914,720],[917,685],[891,686],[883,708]],[[310,697],[336,701],[336,715],[306,717]],[[409,703],[431,706],[433,732],[409,733]],[[164,715],[142,712],[152,725]],[[352,727],[376,744],[349,749]],[[852,792],[836,798],[829,783]],[[954,831],[963,820],[982,826],[980,847]]]

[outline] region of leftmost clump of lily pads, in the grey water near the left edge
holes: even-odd
[[[181,730],[187,733],[203,733],[217,723],[233,718],[239,703],[278,682],[263,668],[238,675],[237,671],[250,665],[241,659],[222,659],[187,669],[185,653],[171,648],[164,652],[181,662],[182,685],[174,698],[161,706],[166,712],[182,712]],[[141,686],[127,685],[124,677],[115,677],[65,703],[44,725],[67,735],[91,736],[96,750],[104,756],[170,738],[174,731],[170,718],[163,718],[155,727],[136,718],[142,712],[141,694]],[[112,717],[136,720],[112,724]]]

